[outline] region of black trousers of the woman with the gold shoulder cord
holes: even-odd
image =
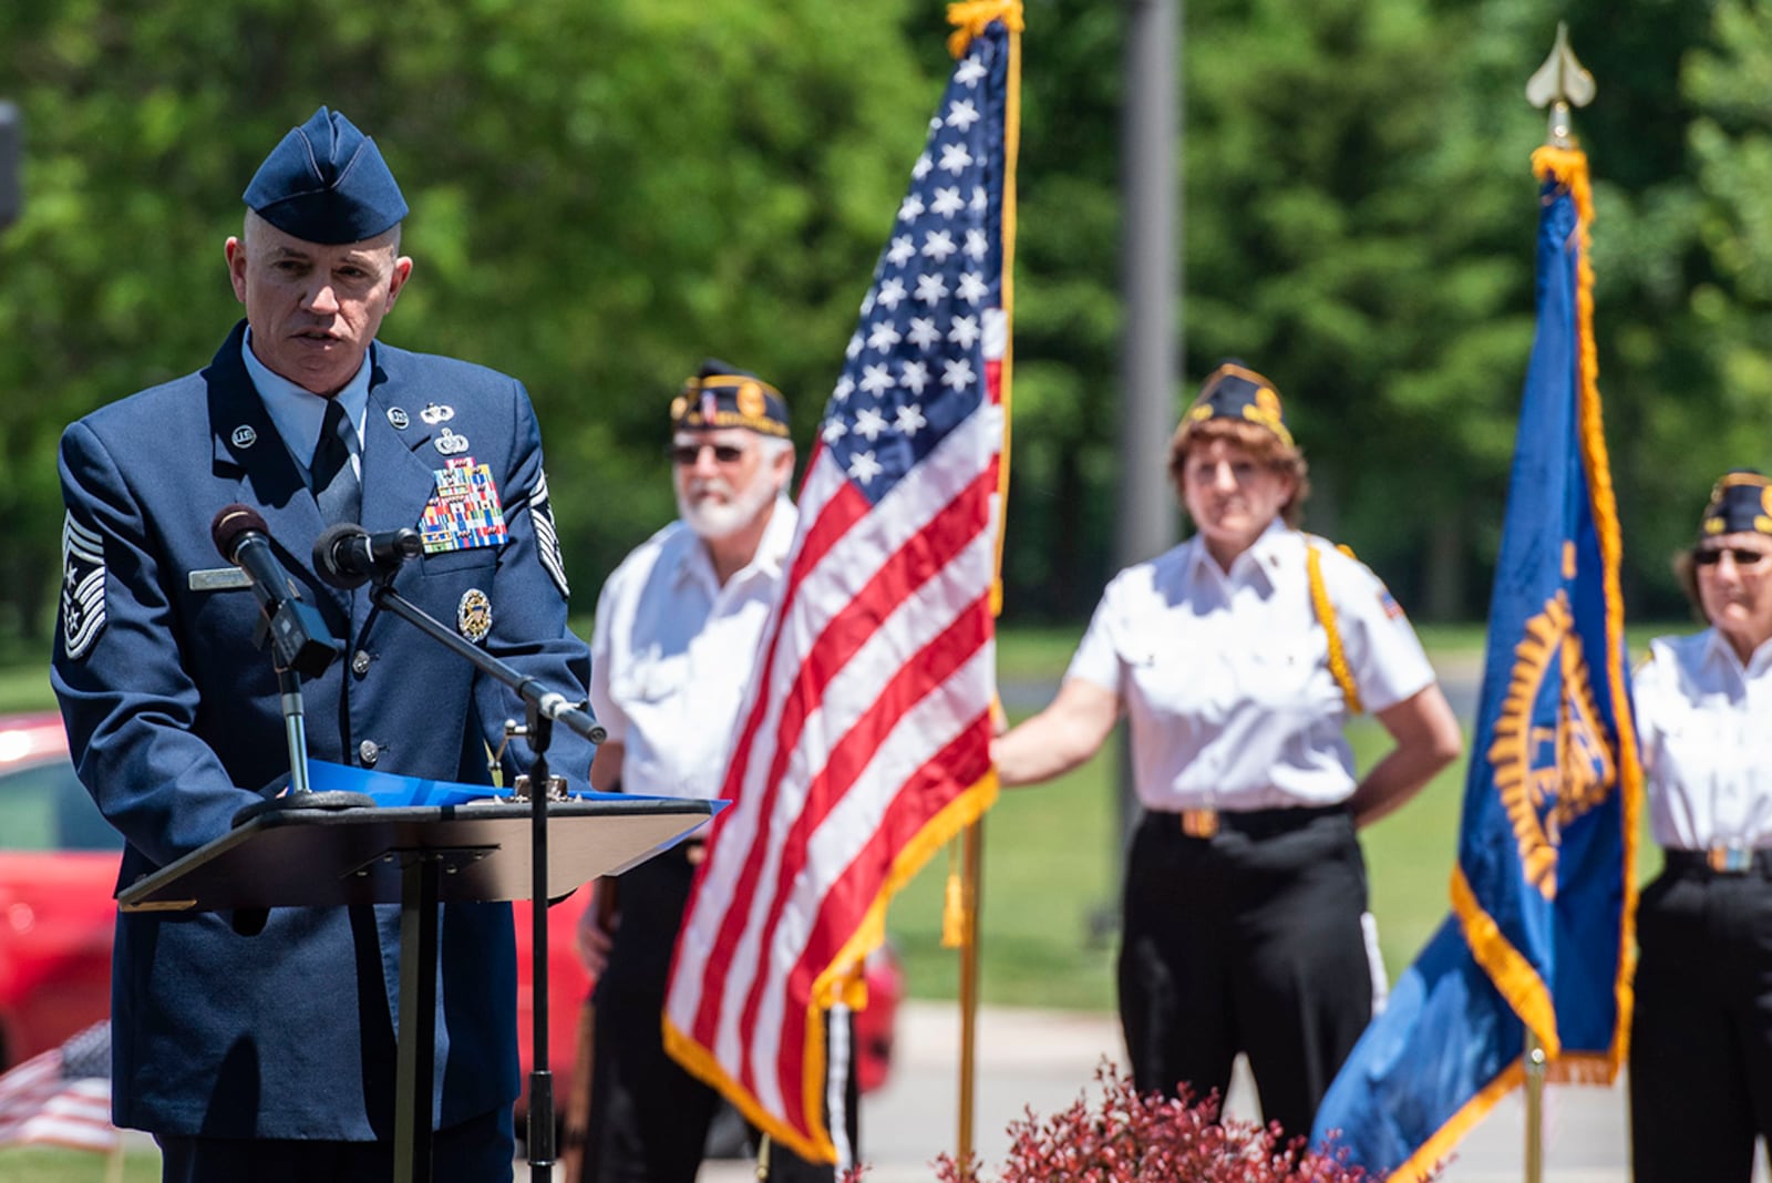
[[[1214,838],[1146,813],[1127,859],[1120,1022],[1141,1093],[1230,1087],[1249,1057],[1265,1121],[1310,1137],[1372,1018],[1366,864],[1345,809],[1221,815]]]

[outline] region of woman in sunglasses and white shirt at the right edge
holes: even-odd
[[[1632,687],[1666,870],[1637,910],[1637,1183],[1747,1183],[1772,1135],[1772,489],[1717,482],[1675,563],[1710,627],[1657,638]]]

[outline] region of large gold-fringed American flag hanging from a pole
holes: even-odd
[[[861,1002],[888,898],[996,795],[1021,7],[955,7],[957,62],[808,462],[664,1008],[684,1066],[826,1162],[820,1015]]]

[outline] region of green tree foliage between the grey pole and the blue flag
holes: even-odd
[[[1483,50],[1414,0],[1189,5],[1189,368],[1272,377],[1310,524],[1437,616],[1492,544],[1531,342],[1538,140]]]

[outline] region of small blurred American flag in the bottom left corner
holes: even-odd
[[[110,1121],[110,1020],[0,1077],[0,1146],[25,1142],[97,1151],[119,1144]]]

